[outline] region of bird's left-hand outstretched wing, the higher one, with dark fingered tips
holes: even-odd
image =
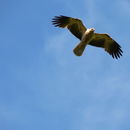
[[[80,19],[75,19],[61,15],[55,16],[52,19],[52,23],[56,27],[68,28],[70,32],[80,40],[86,31],[86,27],[83,25]]]

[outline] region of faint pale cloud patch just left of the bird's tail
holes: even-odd
[[[43,48],[46,55],[53,57],[57,62],[63,62],[63,57],[67,54],[67,48],[69,48],[68,44],[71,42],[69,35],[69,32],[64,30],[64,32],[61,31],[48,37]]]

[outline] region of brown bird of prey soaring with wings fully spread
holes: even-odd
[[[67,28],[80,40],[80,43],[73,50],[76,56],[81,56],[87,45],[104,48],[116,59],[122,56],[121,46],[114,39],[108,34],[95,33],[94,28],[87,29],[80,19],[60,15],[55,16],[52,23],[55,27]]]

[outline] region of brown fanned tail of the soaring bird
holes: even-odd
[[[85,50],[87,44],[80,42],[74,49],[73,52],[76,56],[81,56]]]

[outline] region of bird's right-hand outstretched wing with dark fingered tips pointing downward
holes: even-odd
[[[121,46],[113,40],[108,34],[95,33],[93,40],[89,43],[96,47],[102,47],[107,51],[113,58],[120,58],[123,51]]]

